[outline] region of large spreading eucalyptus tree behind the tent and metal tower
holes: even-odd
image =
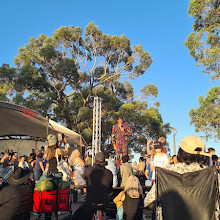
[[[102,98],[102,143],[111,151],[112,126],[123,114],[135,134],[131,146],[141,151],[149,137],[166,136],[159,111],[148,109],[156,98],[155,85],[142,90],[143,101],[134,101],[130,81],[144,74],[152,59],[141,45],[131,46],[125,36],[104,34],[90,22],[80,27],[60,27],[52,37],[40,34],[19,48],[16,68],[0,67],[0,99],[21,104],[92,138],[92,102]],[[157,106],[157,103],[154,102]]]

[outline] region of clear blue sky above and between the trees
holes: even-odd
[[[187,14],[189,0],[24,0],[0,2],[0,65],[13,64],[18,48],[39,34],[52,36],[60,26],[80,26],[93,21],[105,34],[125,34],[132,45],[142,44],[153,59],[149,70],[132,81],[135,92],[153,83],[159,89],[163,121],[177,129],[176,144],[196,134],[190,126],[189,110],[198,107],[198,96],[206,96],[219,82],[197,68],[184,46],[192,32],[193,18]],[[168,136],[172,148],[172,135]],[[220,155],[220,143],[206,142]],[[219,148],[219,150],[218,150]]]

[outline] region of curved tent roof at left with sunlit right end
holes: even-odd
[[[53,120],[49,119],[48,123],[45,117],[19,105],[0,101],[0,121],[1,137],[30,136],[46,138],[48,125],[48,134],[63,133],[70,145],[82,145],[81,135]]]

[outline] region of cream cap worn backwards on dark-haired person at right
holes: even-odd
[[[205,142],[200,137],[185,137],[181,141],[179,147],[189,154],[198,154],[208,157],[210,156],[210,154],[205,152]]]

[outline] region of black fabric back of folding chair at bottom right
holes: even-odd
[[[214,220],[218,198],[215,167],[179,174],[156,168],[157,201],[163,220]]]

